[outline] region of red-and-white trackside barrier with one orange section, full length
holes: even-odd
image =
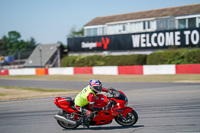
[[[94,66],[61,68],[22,68],[0,70],[0,75],[159,75],[200,74],[200,64],[186,65],[138,65],[138,66]]]

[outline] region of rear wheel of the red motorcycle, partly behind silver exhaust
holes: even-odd
[[[66,111],[61,110],[58,112],[58,115],[64,116],[65,118],[69,119],[68,118],[69,113]],[[75,129],[79,126],[78,124],[76,124],[76,125],[67,124],[67,123],[59,121],[59,120],[57,120],[57,122],[62,128],[65,128],[65,129]]]

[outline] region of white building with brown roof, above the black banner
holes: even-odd
[[[200,27],[200,4],[96,17],[84,26],[84,36],[195,27]]]

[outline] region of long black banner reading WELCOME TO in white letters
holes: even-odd
[[[200,28],[68,38],[69,51],[104,51],[199,47]]]

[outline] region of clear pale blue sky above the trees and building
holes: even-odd
[[[96,17],[191,5],[200,0],[0,0],[0,39],[17,31],[36,43],[67,43],[72,28],[80,30]]]

